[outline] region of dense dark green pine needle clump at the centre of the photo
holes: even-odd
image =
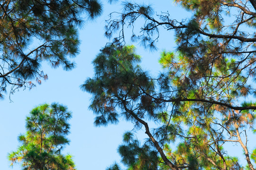
[[[134,46],[121,49],[109,46],[94,59],[96,77],[88,78],[81,88],[95,95],[90,108],[98,115],[94,122],[96,126],[118,123],[119,103],[116,101],[121,98],[141,100],[142,107],[149,111],[155,107],[150,98],[138,95],[140,88],[145,88],[146,92],[151,93],[153,81],[149,80],[147,73],[137,65],[140,57],[134,51]],[[128,112],[123,115],[127,120],[132,119]]]

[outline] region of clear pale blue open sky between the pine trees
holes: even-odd
[[[151,4],[155,11],[169,11],[171,16],[187,18],[191,14],[174,5],[171,0],[137,0],[137,3]],[[86,78],[93,76],[91,61],[99,53],[99,50],[110,42],[104,37],[105,20],[108,14],[119,11],[120,4],[104,4],[101,17],[93,21],[86,21],[80,28],[81,39],[80,54],[74,59],[77,67],[72,71],[64,71],[62,68],[53,69],[43,64],[43,70],[48,75],[46,81],[41,85],[29,89],[19,89],[16,93],[9,94],[3,101],[0,101],[0,169],[20,170],[20,165],[10,167],[7,155],[18,148],[19,134],[25,134],[25,119],[29,111],[35,106],[43,103],[59,102],[73,112],[71,133],[68,135],[70,145],[66,146],[64,153],[73,155],[77,170],[105,170],[114,161],[119,162],[117,153],[118,145],[122,142],[124,132],[133,128],[133,125],[120,121],[118,125],[107,127],[95,127],[94,117],[91,110],[88,110],[91,95],[80,90],[80,85]],[[129,31],[129,30],[128,30]],[[158,64],[160,52],[163,50],[174,50],[175,43],[173,32],[162,30],[157,43],[157,51],[148,51],[137,46],[137,53],[142,56],[142,68],[149,70],[149,73],[157,75],[161,71]],[[131,42],[127,42],[131,44]],[[137,134],[139,138],[146,138],[143,129]]]

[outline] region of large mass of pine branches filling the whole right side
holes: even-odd
[[[128,132],[119,146],[129,170],[254,170],[256,149],[248,149],[247,130],[255,131],[256,103],[246,97],[256,93],[255,2],[175,3],[192,17],[178,21],[168,12],[155,15],[151,6],[130,2],[123,12],[110,14],[106,35],[118,32],[118,37],[101,50],[93,61],[95,76],[81,86],[92,94],[95,124],[118,123],[122,117],[145,129],[144,144]],[[145,23],[137,34],[138,18]],[[159,76],[140,68],[135,47],[125,46],[126,26],[132,40],[153,49],[160,27],[174,31],[177,48],[161,53]],[[243,149],[247,165],[227,153],[227,144]]]

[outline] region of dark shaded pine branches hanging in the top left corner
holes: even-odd
[[[101,14],[98,0],[0,0],[0,97],[47,79],[43,61],[53,68],[75,67],[81,14]]]

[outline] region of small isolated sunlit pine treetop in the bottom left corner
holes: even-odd
[[[69,140],[67,107],[52,103],[42,104],[30,111],[26,119],[26,135],[18,136],[22,143],[16,152],[9,153],[11,165],[22,162],[23,170],[75,170],[71,155],[61,151]]]

